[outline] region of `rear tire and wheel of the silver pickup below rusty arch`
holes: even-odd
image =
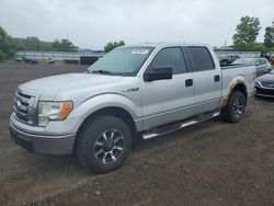
[[[239,123],[246,111],[247,99],[240,91],[233,91],[225,107],[221,108],[221,117],[228,123]]]

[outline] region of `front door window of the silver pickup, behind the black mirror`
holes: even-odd
[[[151,61],[151,65],[153,68],[164,66],[171,67],[173,75],[187,72],[183,53],[180,47],[161,49]]]

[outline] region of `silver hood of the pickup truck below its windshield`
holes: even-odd
[[[84,88],[110,87],[123,79],[121,76],[104,76],[92,73],[67,73],[42,78],[28,81],[20,85],[20,89],[26,91],[36,91],[41,94],[41,100],[54,100],[54,98],[62,92],[80,91]]]

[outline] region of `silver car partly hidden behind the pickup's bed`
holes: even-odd
[[[255,65],[256,77],[263,76],[264,73],[267,73],[272,69],[271,64],[266,58],[239,58],[236,59],[231,65],[242,65],[242,64]]]

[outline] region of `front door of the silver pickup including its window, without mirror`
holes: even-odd
[[[144,128],[152,128],[192,116],[193,73],[187,71],[181,47],[165,47],[148,66],[151,69],[171,67],[172,79],[141,82]]]

